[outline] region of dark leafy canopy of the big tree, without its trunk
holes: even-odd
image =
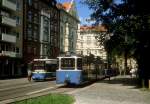
[[[141,8],[146,1],[143,3],[140,0],[122,0],[118,4],[116,0],[84,0],[83,3],[93,9],[91,18],[96,20],[95,24],[102,22],[108,28],[108,33],[114,34],[109,40],[101,34],[98,36],[106,50],[121,55],[124,48],[127,48],[128,55],[135,56],[143,29],[150,27],[150,19],[143,17],[143,13],[148,14],[148,6]]]

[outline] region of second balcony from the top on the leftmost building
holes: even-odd
[[[16,20],[10,17],[2,16],[2,24],[9,25],[12,27],[16,27]]]

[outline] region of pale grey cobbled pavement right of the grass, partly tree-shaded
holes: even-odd
[[[150,91],[138,89],[129,76],[94,83],[72,94],[75,104],[150,104]]]

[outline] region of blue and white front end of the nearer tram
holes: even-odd
[[[77,56],[58,57],[58,70],[56,70],[57,84],[75,84],[82,83],[82,58]]]

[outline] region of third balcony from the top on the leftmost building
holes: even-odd
[[[1,39],[2,41],[5,41],[5,42],[16,43],[16,36],[13,36],[10,34],[2,33]]]

